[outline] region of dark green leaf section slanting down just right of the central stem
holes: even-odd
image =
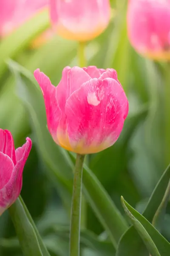
[[[86,165],[84,165],[83,169],[83,185],[83,192],[86,199],[105,230],[108,231],[111,241],[116,248],[120,237],[127,230],[125,219],[116,208],[102,184]]]

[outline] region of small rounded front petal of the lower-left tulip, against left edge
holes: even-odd
[[[0,152],[0,189],[10,180],[13,169],[14,163],[11,158],[3,152]]]

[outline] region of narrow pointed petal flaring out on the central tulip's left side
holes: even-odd
[[[54,140],[56,140],[57,126],[61,116],[61,111],[56,98],[56,87],[51,84],[48,76],[45,76],[39,69],[34,71],[34,77],[40,85],[44,96],[48,130]]]

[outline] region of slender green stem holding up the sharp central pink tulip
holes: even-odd
[[[85,155],[77,154],[74,171],[73,196],[71,207],[70,253],[69,256],[79,256],[80,216],[82,197],[82,167]]]

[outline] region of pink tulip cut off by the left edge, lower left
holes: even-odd
[[[31,140],[15,150],[10,131],[0,129],[0,215],[14,203],[22,188],[23,168],[31,150]]]

